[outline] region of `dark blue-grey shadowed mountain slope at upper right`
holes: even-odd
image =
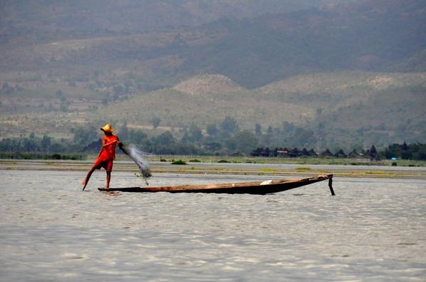
[[[247,88],[312,72],[425,71],[425,11],[425,1],[370,0],[222,20],[207,28],[226,34],[191,48],[184,67],[224,74]]]

